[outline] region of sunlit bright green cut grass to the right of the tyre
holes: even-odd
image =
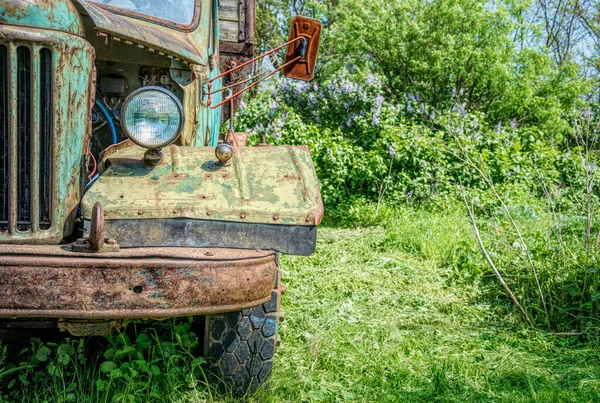
[[[399,212],[387,228],[323,229],[288,258],[272,401],[600,399],[600,349],[522,326],[445,266],[460,216]]]

